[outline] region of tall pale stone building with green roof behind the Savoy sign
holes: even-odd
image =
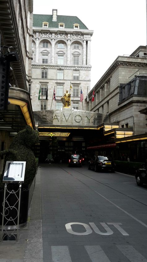
[[[78,17],[57,15],[56,9],[52,15],[33,15],[30,92],[33,111],[61,109],[60,99],[66,90],[71,93],[71,108],[86,110],[92,34]],[[38,101],[40,87],[42,92]],[[56,101],[53,100],[54,88]],[[81,89],[83,103],[80,102]]]

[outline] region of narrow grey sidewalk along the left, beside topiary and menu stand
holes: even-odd
[[[19,230],[17,242],[0,243],[0,262],[43,262],[40,167],[31,200],[27,226]]]

